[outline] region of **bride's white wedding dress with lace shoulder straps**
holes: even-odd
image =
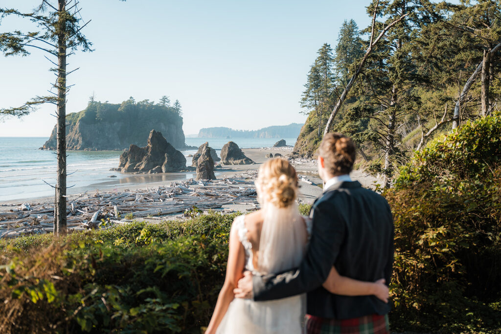
[[[296,209],[297,210],[297,209]],[[283,215],[282,215],[283,216]],[[247,240],[247,229],[245,228],[245,216],[236,217],[233,222],[233,228],[237,229],[238,236],[241,244],[245,250],[245,270],[252,271],[254,275],[259,275],[260,273],[255,270],[253,264],[253,252],[252,252],[252,244]],[[307,217],[304,218],[304,223],[302,224],[302,228],[305,230],[303,236],[307,235],[308,238],[311,234],[312,222],[311,219]],[[282,217],[279,218],[282,220]],[[275,223],[275,222],[274,222]],[[306,226],[305,226],[306,223]],[[265,224],[265,223],[264,223]],[[286,224],[283,224],[284,228],[287,228]],[[263,227],[264,232],[265,227]],[[289,225],[289,229],[291,226]],[[273,254],[278,254],[279,256],[283,256],[285,262],[283,265],[290,265],[291,262],[287,261],[287,257],[293,257],[293,254],[289,253],[302,253],[299,260],[304,255],[304,251],[306,250],[306,241],[299,241],[299,238],[294,240],[294,236],[292,238],[288,233],[290,230],[282,230],[285,235],[276,235],[275,237],[285,237],[286,240],[275,241],[270,245],[272,247],[281,247],[281,250],[284,252],[269,252]],[[263,240],[263,232],[262,232],[262,240]],[[280,230],[275,230],[276,232],[280,232]],[[301,234],[301,233],[296,233]],[[284,239],[284,238],[282,238]],[[293,240],[287,240],[293,239]],[[277,239],[278,240],[278,239]],[[269,240],[272,241],[272,240]],[[262,244],[261,244],[262,245]],[[287,248],[289,247],[289,250]],[[291,247],[294,249],[291,251]],[[298,249],[302,247],[303,249]],[[261,254],[261,246],[260,246],[260,254]],[[261,256],[261,255],[260,255]],[[289,263],[288,263],[289,262]],[[299,265],[298,261],[296,263],[292,263],[293,266]],[[291,267],[293,267],[291,266]],[[281,268],[282,270],[289,269]],[[277,267],[276,267],[277,268]],[[300,334],[304,332],[304,317],[305,317],[305,306],[306,295],[297,295],[293,297],[271,300],[271,301],[254,301],[250,299],[240,299],[235,298],[229,304],[228,310],[224,315],[221,323],[219,324],[216,333],[217,334]]]

